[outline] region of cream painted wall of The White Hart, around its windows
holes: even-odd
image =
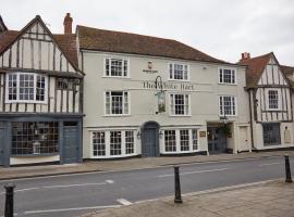
[[[102,52],[83,52],[84,73],[84,157],[90,157],[90,131],[97,129],[139,127],[148,122],[155,120],[161,127],[197,126],[199,130],[206,131],[207,122],[219,123],[219,95],[236,97],[237,115],[229,117],[232,123],[249,123],[249,106],[245,87],[245,67],[234,65],[221,65],[213,63],[201,63],[195,61],[179,61],[164,58],[139,56],[127,54],[113,54]],[[103,76],[105,58],[123,58],[128,60],[130,78],[111,78]],[[148,61],[152,62],[156,74],[148,74]],[[169,63],[185,63],[189,66],[189,81],[169,80]],[[220,85],[218,68],[230,67],[236,69],[237,85]],[[158,90],[144,88],[144,82],[150,85],[160,75],[163,82],[175,85],[175,90],[167,89],[167,112],[156,115]],[[181,85],[193,86],[194,90],[182,90]],[[131,114],[126,116],[106,116],[103,94],[107,90],[125,90],[130,92]],[[169,93],[181,92],[191,94],[191,116],[170,116]],[[232,144],[235,150],[235,138]],[[199,138],[199,151],[207,150],[207,138]],[[139,150],[140,151],[140,150]]]

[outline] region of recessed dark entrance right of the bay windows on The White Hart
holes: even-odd
[[[224,133],[218,127],[208,127],[207,133],[209,153],[224,153],[226,150],[226,140]]]

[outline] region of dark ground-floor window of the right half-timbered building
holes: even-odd
[[[265,146],[281,144],[279,123],[262,124],[262,130],[264,130]]]

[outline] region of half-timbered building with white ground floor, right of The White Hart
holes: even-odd
[[[243,53],[241,63],[248,66],[246,89],[249,94],[253,148],[293,146],[291,67],[281,66],[272,52],[256,58]],[[289,72],[287,76],[285,72]]]

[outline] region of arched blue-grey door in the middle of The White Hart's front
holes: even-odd
[[[156,122],[143,125],[142,156],[159,156],[159,124]]]

